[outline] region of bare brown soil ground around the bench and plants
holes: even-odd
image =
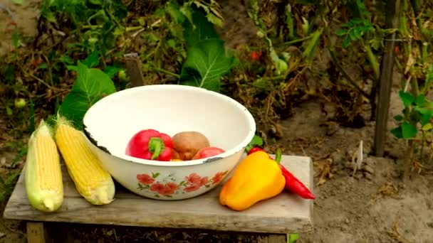
[[[37,1],[24,1],[24,6],[13,6],[0,1],[0,26],[9,20],[3,6],[9,6],[19,28],[26,35],[34,34]],[[238,2],[222,1],[226,16],[223,38],[233,47],[249,41],[255,34],[254,27]],[[239,1],[240,2],[240,1]],[[0,36],[2,51],[10,36]],[[395,84],[397,87],[397,78]],[[283,139],[269,146],[280,146],[289,155],[311,156],[314,161],[314,229],[300,235],[298,242],[419,242],[433,239],[433,173],[423,170],[414,173],[412,179],[403,183],[400,168],[405,163],[406,144],[388,136],[384,158],[372,156],[374,122],[367,121],[360,129],[350,129],[329,122],[321,109],[322,99],[311,98],[294,107],[293,117],[280,121]],[[400,112],[402,104],[397,88],[392,92],[390,117]],[[369,110],[365,108],[366,118]],[[16,157],[14,149],[6,149],[10,141],[10,124],[4,119],[6,112],[0,104],[0,176],[6,177],[12,169],[8,164]],[[389,121],[389,127],[394,126]],[[259,128],[264,129],[264,128]],[[26,138],[21,139],[23,142]],[[347,166],[360,141],[364,145],[365,165],[353,176]],[[21,158],[21,163],[24,158]],[[19,163],[20,164],[20,163]],[[432,163],[426,164],[431,168]],[[320,173],[325,176],[320,180]],[[13,171],[13,170],[12,170]],[[332,176],[330,176],[332,175]],[[320,185],[318,185],[320,184]],[[1,206],[2,212],[4,205]],[[115,234],[113,234],[113,232]],[[74,227],[74,242],[253,242],[255,238],[221,236],[212,237],[200,232],[160,232],[138,229],[106,227]],[[24,242],[25,228],[21,222],[0,217],[0,242]],[[122,241],[116,241],[121,239]]]

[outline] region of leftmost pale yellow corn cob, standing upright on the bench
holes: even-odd
[[[43,212],[54,212],[63,203],[63,181],[56,142],[45,121],[28,140],[25,185],[28,201]]]

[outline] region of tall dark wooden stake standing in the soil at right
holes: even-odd
[[[387,1],[387,28],[398,28],[400,14],[400,0]],[[392,87],[392,73],[394,69],[395,32],[385,44],[385,55],[382,59],[380,71],[379,97],[377,99],[377,119],[375,126],[375,155],[382,157],[385,150],[386,136],[388,134],[387,121],[390,108]]]

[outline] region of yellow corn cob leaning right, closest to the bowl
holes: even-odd
[[[100,165],[84,136],[66,118],[58,117],[56,143],[75,188],[91,204],[105,205],[114,200],[114,181]]]

